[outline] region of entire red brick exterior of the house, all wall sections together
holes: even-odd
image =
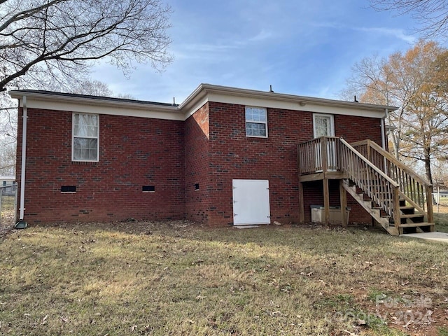
[[[21,113],[21,111],[20,111]],[[101,115],[100,161],[71,162],[71,113],[29,109],[25,220],[111,221],[187,218],[233,223],[232,179],[269,180],[271,220],[297,222],[297,144],[313,138],[312,113],[267,109],[267,139],[246,137],[244,106],[209,102],[185,123]],[[18,127],[20,183],[22,118]],[[380,120],[335,116],[336,136],[381,143]],[[195,184],[199,183],[199,190]],[[76,186],[76,193],[60,192]],[[155,193],[142,193],[155,186]],[[305,183],[305,220],[323,204],[322,185]],[[351,221],[370,216],[348,197]],[[330,204],[339,185],[330,182]]]

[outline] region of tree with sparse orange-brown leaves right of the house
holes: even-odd
[[[360,102],[398,107],[386,120],[395,157],[423,162],[432,183],[431,165],[448,151],[447,88],[448,51],[421,40],[405,53],[358,62],[345,90],[357,92]]]

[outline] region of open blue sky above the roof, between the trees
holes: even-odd
[[[200,83],[338,99],[363,57],[405,51],[419,38],[409,16],[367,0],[167,0],[169,51],[162,73],[139,65],[125,78],[107,64],[92,78],[117,93],[183,102]]]

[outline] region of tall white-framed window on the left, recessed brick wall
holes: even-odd
[[[73,113],[71,160],[99,161],[99,116]]]

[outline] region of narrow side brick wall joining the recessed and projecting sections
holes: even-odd
[[[209,104],[185,122],[186,219],[209,220]],[[199,190],[195,190],[195,184]]]

